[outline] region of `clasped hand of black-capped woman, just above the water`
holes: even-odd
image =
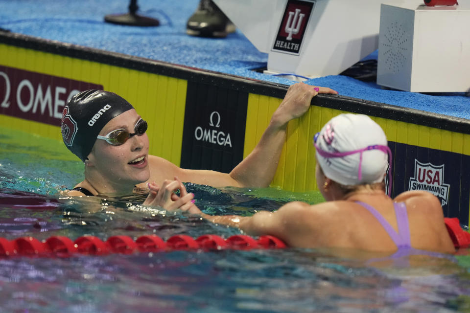
[[[175,180],[165,179],[161,187],[155,182],[149,183],[148,188],[150,193],[143,202],[145,206],[159,206],[169,211],[176,209],[190,211],[191,207],[195,206],[194,194],[188,194],[183,183],[176,177]],[[180,191],[179,197],[175,194],[177,190]]]

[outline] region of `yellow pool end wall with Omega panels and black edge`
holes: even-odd
[[[150,154],[185,168],[230,171],[255,147],[288,86],[0,32],[0,123],[61,140],[76,90],[106,89],[149,123]],[[272,182],[317,190],[313,134],[341,112],[371,116],[394,160],[392,194],[424,189],[469,224],[470,121],[341,95],[319,95],[288,138]]]

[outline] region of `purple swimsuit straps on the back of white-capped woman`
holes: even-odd
[[[390,236],[390,238],[392,238],[393,242],[395,243],[395,245],[397,245],[397,247],[411,247],[408,214],[404,202],[393,203],[393,206],[395,208],[395,217],[397,218],[398,233],[395,231],[395,229],[393,229],[392,225],[390,225],[387,220],[385,220],[383,216],[378,213],[378,211],[374,207],[361,201],[355,202],[365,207],[369,212],[371,212],[372,215],[374,215],[377,221],[382,224],[383,228],[387,231],[388,235]]]

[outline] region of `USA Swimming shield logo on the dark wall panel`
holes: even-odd
[[[444,164],[436,166],[415,159],[415,177],[410,178],[409,190],[429,191],[444,206],[449,200],[449,187],[449,184],[444,183]]]

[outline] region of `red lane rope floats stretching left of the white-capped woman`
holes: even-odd
[[[221,250],[284,248],[285,243],[273,236],[258,239],[234,235],[224,239],[217,235],[202,235],[193,239],[188,235],[174,235],[166,242],[156,235],[145,235],[135,241],[129,236],[112,236],[102,241],[94,236],[82,236],[72,241],[68,237],[52,236],[44,241],[33,237],[20,237],[12,241],[0,238],[0,257],[69,257],[74,254],[107,255],[171,250]]]

